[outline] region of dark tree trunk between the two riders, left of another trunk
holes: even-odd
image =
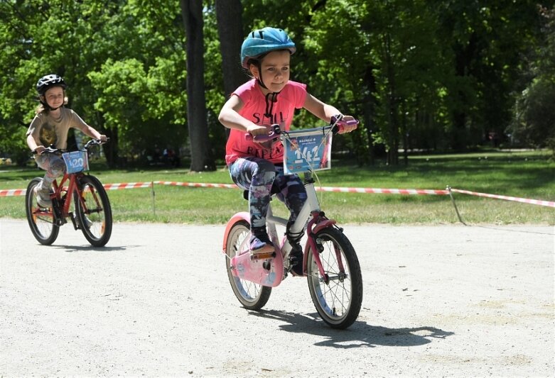
[[[203,1],[180,0],[187,38],[187,123],[190,140],[190,170],[216,169],[206,119],[204,84]]]

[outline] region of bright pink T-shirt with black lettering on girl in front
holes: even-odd
[[[246,82],[232,93],[243,101],[239,114],[257,125],[270,127],[279,124],[281,130],[289,130],[295,109],[301,109],[306,99],[306,84],[287,82],[279,94],[264,96],[255,79]],[[275,101],[272,101],[274,97]],[[232,129],[225,145],[225,162],[230,165],[239,157],[262,157],[271,162],[283,162],[284,148],[279,140],[262,145],[244,138],[244,131]]]

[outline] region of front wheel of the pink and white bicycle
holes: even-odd
[[[316,234],[318,250],[308,250],[308,289],[320,317],[333,328],[350,326],[362,305],[362,274],[355,249],[337,228],[324,228]],[[322,276],[314,256],[318,254]]]

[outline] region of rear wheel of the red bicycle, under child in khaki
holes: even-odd
[[[36,203],[35,187],[41,184],[42,181],[43,179],[41,179],[41,177],[35,177],[27,185],[27,191],[25,193],[25,213],[29,228],[31,228],[31,233],[33,233],[38,243],[51,245],[56,238],[58,238],[60,226],[56,224],[55,214],[51,207],[48,211],[41,211],[38,213],[38,209],[41,208]]]

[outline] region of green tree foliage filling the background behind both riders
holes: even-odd
[[[202,4],[197,72],[200,63],[187,68],[193,56],[178,0],[0,1],[0,152],[26,161],[36,81],[56,72],[69,84],[69,106],[112,138],[110,164],[139,164],[168,146],[188,155],[191,143],[202,145],[201,160],[220,159],[226,134],[217,113],[247,79],[239,42],[264,26],[296,42],[293,79],[362,120],[335,143],[360,164],[382,151],[397,164],[403,149],[473,148],[492,133],[509,143],[506,130],[523,145],[555,140],[552,0]],[[199,75],[204,89],[187,93]],[[191,96],[204,106],[190,107]],[[315,122],[301,111],[294,126]],[[197,132],[208,133],[205,144],[194,142]]]

